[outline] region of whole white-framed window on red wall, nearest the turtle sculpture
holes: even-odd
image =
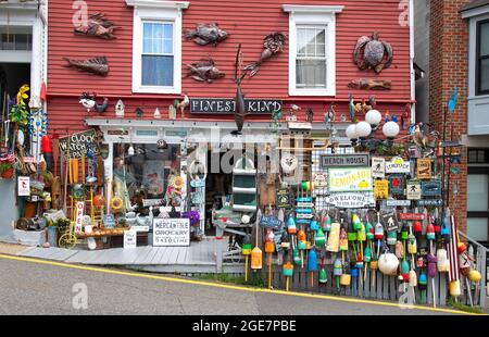
[[[336,13],[342,5],[284,4],[289,13],[289,95],[336,95]]]

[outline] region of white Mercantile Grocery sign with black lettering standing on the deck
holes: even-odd
[[[153,246],[154,247],[190,246],[190,220],[154,219]]]

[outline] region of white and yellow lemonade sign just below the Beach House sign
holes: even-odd
[[[328,179],[329,192],[372,191],[374,189],[371,167],[329,168]]]

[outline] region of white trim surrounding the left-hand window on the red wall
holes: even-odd
[[[133,24],[133,92],[181,93],[181,10],[189,7],[186,1],[126,0],[134,7]],[[174,70],[173,86],[141,85],[142,23],[145,21],[172,22],[174,24]]]

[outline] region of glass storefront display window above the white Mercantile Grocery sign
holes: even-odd
[[[161,200],[163,205],[179,207],[180,146],[159,147],[149,143],[114,145],[114,196],[121,197],[124,205],[143,207],[143,200]]]

